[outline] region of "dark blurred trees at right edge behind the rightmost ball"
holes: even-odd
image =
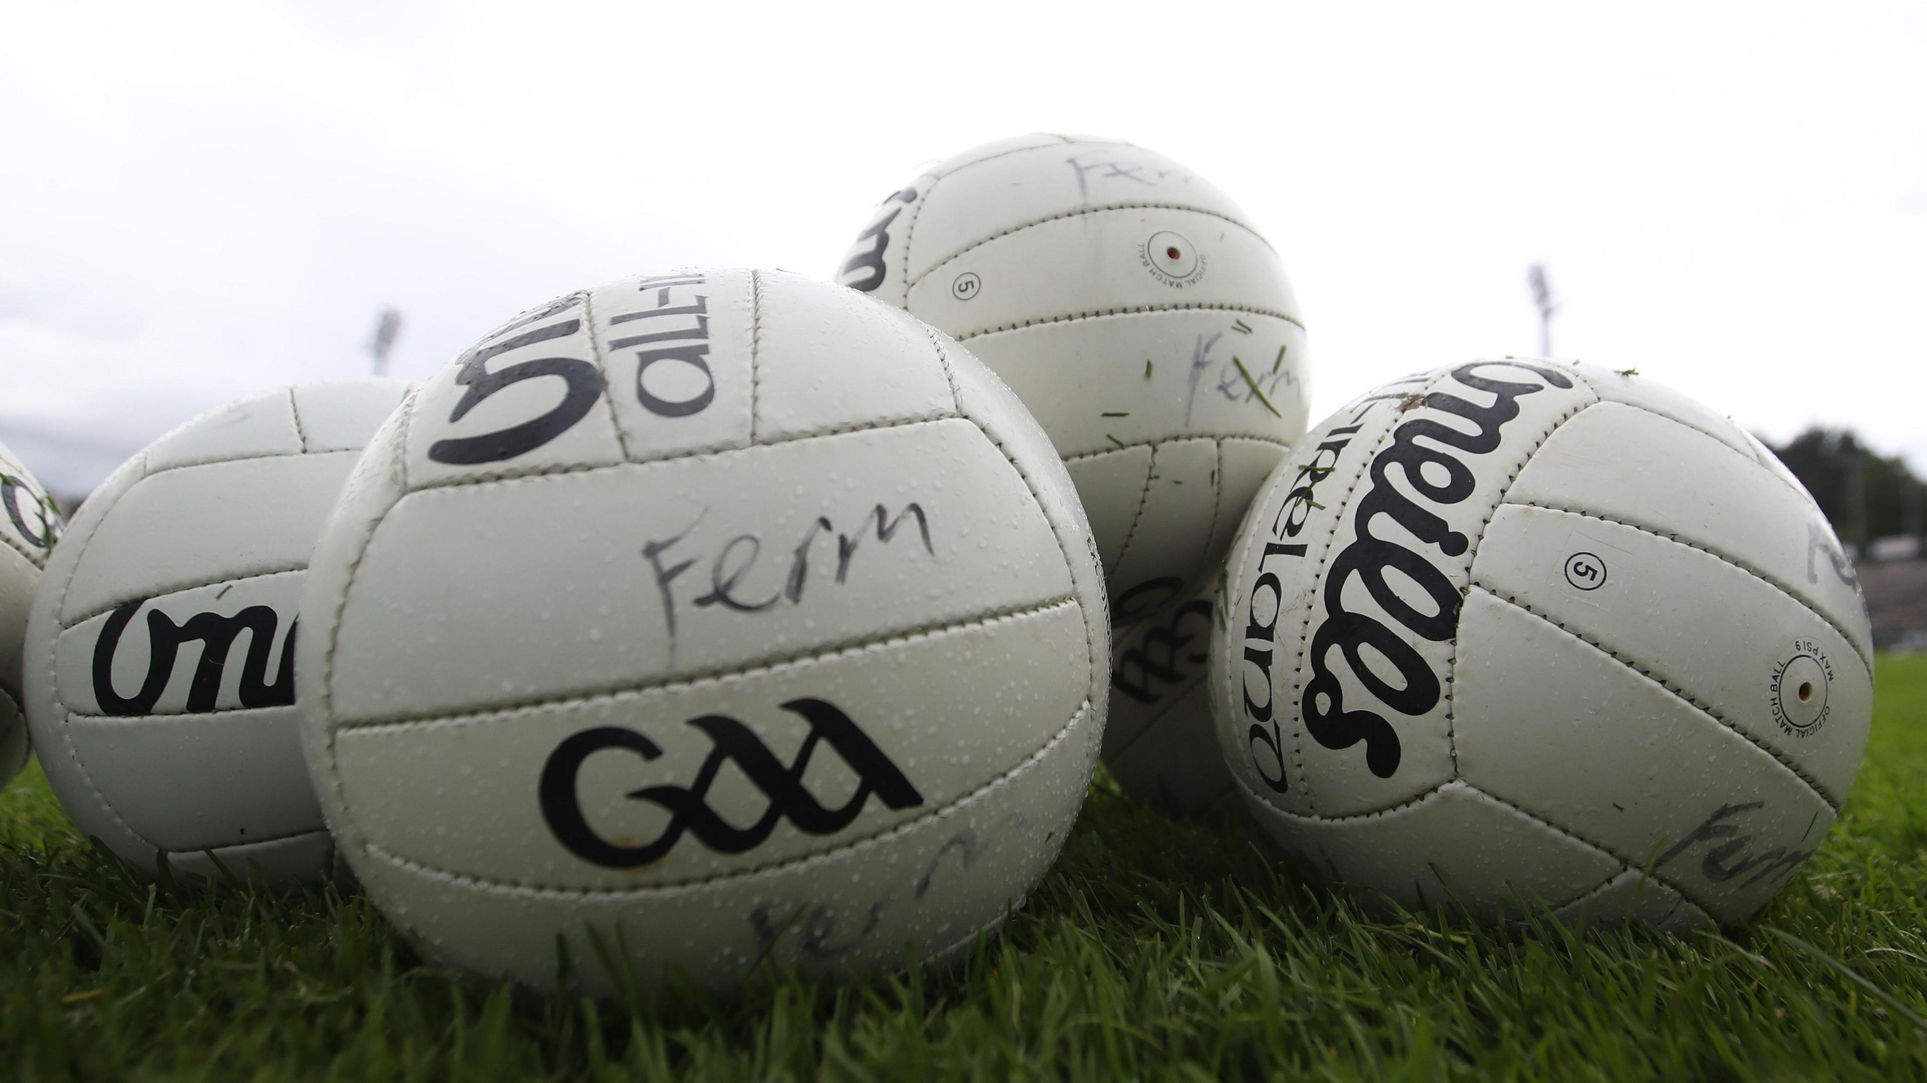
[[[1921,538],[1927,484],[1898,457],[1877,455],[1854,430],[1809,428],[1786,443],[1767,443],[1813,493],[1840,542],[1865,553],[1875,538]]]

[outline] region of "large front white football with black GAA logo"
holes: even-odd
[[[780,272],[570,293],[368,445],[314,553],[308,759],[368,894],[536,987],[969,944],[1083,802],[1110,642],[1044,434]],[[609,965],[605,965],[609,964]]]

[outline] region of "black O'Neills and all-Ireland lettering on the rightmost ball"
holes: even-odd
[[[1522,383],[1478,376],[1476,372],[1482,368],[1517,368],[1540,376],[1544,383]],[[1378,700],[1376,705],[1389,707],[1401,715],[1424,715],[1439,701],[1439,678],[1405,632],[1432,642],[1449,640],[1459,630],[1463,595],[1459,594],[1459,588],[1453,586],[1451,578],[1438,568],[1424,551],[1409,549],[1401,542],[1374,536],[1372,520],[1378,515],[1386,515],[1422,545],[1436,547],[1447,557],[1463,557],[1470,545],[1466,536],[1451,530],[1445,518],[1424,507],[1424,503],[1412,501],[1401,488],[1393,486],[1387,480],[1387,472],[1393,464],[1397,464],[1405,478],[1405,486],[1430,505],[1445,507],[1461,503],[1472,495],[1472,489],[1478,484],[1472,468],[1466,466],[1465,457],[1490,455],[1499,447],[1501,428],[1505,422],[1518,416],[1518,399],[1534,391],[1544,391],[1545,385],[1565,389],[1572,387],[1572,380],[1559,370],[1513,360],[1463,364],[1455,368],[1451,376],[1466,387],[1490,393],[1493,403],[1490,407],[1480,407],[1461,399],[1459,395],[1432,391],[1422,399],[1411,399],[1405,407],[1407,410],[1428,407],[1432,410],[1455,414],[1470,422],[1472,432],[1428,416],[1401,422],[1391,432],[1389,445],[1372,459],[1366,470],[1370,476],[1370,488],[1362,497],[1359,497],[1353,511],[1355,538],[1332,557],[1324,590],[1318,597],[1318,605],[1324,609],[1324,619],[1318,624],[1318,632],[1312,634],[1307,657],[1310,680],[1305,682],[1305,694],[1299,701],[1305,730],[1320,746],[1332,750],[1345,750],[1364,742],[1364,763],[1370,767],[1372,775],[1380,779],[1389,779],[1399,769],[1399,734],[1376,709],[1345,707],[1345,686],[1332,669],[1332,651],[1333,647],[1339,651],[1351,674],[1372,698]],[[1359,432],[1360,424],[1357,422],[1362,416],[1364,410],[1360,409],[1359,416],[1353,418],[1355,424],[1332,430],[1326,443],[1318,445],[1318,451],[1299,472],[1297,484],[1280,511],[1278,522],[1274,524],[1274,536],[1297,536],[1297,532],[1305,526],[1305,518],[1310,515],[1310,509],[1318,507],[1312,499],[1312,488],[1333,470],[1337,464],[1337,453],[1345,447],[1345,443],[1349,443],[1351,434]],[[1345,439],[1333,439],[1341,436]],[[1420,443],[1420,439],[1426,443]],[[1424,474],[1428,464],[1438,466],[1432,478]],[[1264,559],[1274,555],[1303,557],[1305,545],[1278,542],[1266,543],[1264,557],[1258,565],[1260,572],[1264,568]],[[1420,611],[1401,597],[1399,592],[1386,580],[1387,570],[1399,572],[1424,592],[1432,601],[1432,611]],[[1355,613],[1345,609],[1345,584],[1351,582],[1353,576],[1364,584],[1372,601],[1376,601],[1384,615],[1399,624],[1403,632],[1393,630],[1372,613]],[[1272,592],[1268,605],[1258,603],[1258,594],[1264,590]],[[1254,703],[1254,674],[1251,667],[1247,667],[1245,713],[1254,721],[1251,726],[1253,753],[1256,757],[1260,744],[1270,752],[1270,759],[1278,765],[1276,780],[1272,780],[1272,775],[1264,769],[1258,773],[1278,792],[1285,790],[1287,771],[1278,725],[1272,719],[1270,647],[1276,642],[1274,632],[1281,603],[1283,588],[1280,586],[1278,576],[1270,572],[1260,574],[1251,590],[1247,611],[1253,619],[1245,630],[1245,661],[1256,663],[1256,676],[1262,678],[1260,690],[1266,696],[1262,705]],[[1256,615],[1264,609],[1270,609],[1270,621],[1260,624]],[[1253,640],[1258,640],[1260,636],[1262,649],[1253,644]],[[1374,673],[1362,657],[1364,647],[1372,647],[1374,653],[1389,663],[1403,680],[1403,686],[1393,686],[1384,676]]]

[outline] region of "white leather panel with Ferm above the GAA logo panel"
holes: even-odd
[[[430,551],[447,561],[420,561]],[[474,567],[530,574],[472,580]],[[436,488],[403,497],[376,528],[341,615],[330,696],[345,721],[536,701],[1069,592],[1023,478],[962,418]],[[505,634],[503,613],[540,632]],[[522,649],[532,634],[545,649]],[[416,669],[416,655],[466,665]]]

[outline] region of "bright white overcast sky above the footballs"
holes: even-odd
[[[222,401],[565,289],[831,276],[931,160],[1152,146],[1272,239],[1312,412],[1536,353],[1927,468],[1927,15],[1881,4],[0,0],[0,439],[77,493]]]

